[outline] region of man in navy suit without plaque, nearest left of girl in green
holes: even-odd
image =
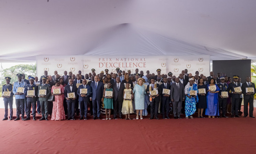
[[[99,81],[99,77],[96,75],[94,77],[94,82],[91,83],[91,89],[92,89],[92,105],[93,105],[93,120],[96,119],[96,116],[98,119],[100,119],[100,107],[101,107],[101,101],[103,98],[103,82]]]

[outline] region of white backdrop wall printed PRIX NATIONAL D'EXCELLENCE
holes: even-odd
[[[121,70],[131,70],[135,73],[135,69],[139,69],[139,73],[146,70],[150,73],[155,73],[158,68],[162,70],[162,74],[172,72],[173,75],[179,75],[181,70],[188,69],[188,73],[195,74],[198,70],[199,74],[209,75],[210,72],[210,55],[38,55],[37,76],[43,75],[44,70],[48,71],[49,75],[53,75],[57,70],[59,75],[63,72],[72,71],[77,74],[81,70],[82,75],[91,72],[91,69],[96,69],[96,74],[104,71],[105,68],[110,72],[115,72],[115,68]]]

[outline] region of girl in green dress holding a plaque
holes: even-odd
[[[107,78],[107,77],[105,77]],[[112,91],[112,96],[108,95],[108,91]],[[111,88],[111,83],[108,82],[108,87],[104,88],[103,90],[103,97],[104,97],[104,108],[105,108],[105,114],[106,114],[106,120],[111,119],[111,109],[113,109],[113,88]],[[109,118],[108,118],[108,111],[109,111]]]

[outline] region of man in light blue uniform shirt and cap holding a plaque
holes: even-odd
[[[24,120],[24,105],[25,105],[25,93],[26,93],[26,82],[22,81],[22,74],[18,73],[16,75],[18,77],[18,81],[14,82],[13,85],[13,93],[15,94],[15,102],[16,102],[16,116],[17,118],[14,119],[20,120],[20,113],[21,119]]]

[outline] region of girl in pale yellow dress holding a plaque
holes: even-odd
[[[130,95],[131,98],[127,99],[125,95]],[[126,89],[124,89],[124,94],[123,94],[124,100],[123,100],[123,105],[122,105],[122,114],[125,114],[125,120],[130,119],[130,113],[133,113],[133,106],[132,106],[132,99],[133,99],[133,92],[132,89],[130,88],[130,84],[126,83]],[[128,118],[127,118],[128,114]]]

